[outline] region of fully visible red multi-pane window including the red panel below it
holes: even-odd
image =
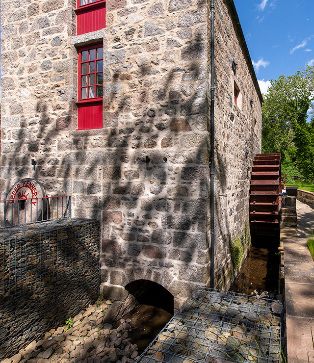
[[[78,48],[78,130],[103,128],[103,52],[103,43]]]

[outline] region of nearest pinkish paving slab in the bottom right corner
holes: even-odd
[[[287,319],[287,331],[289,331],[290,342],[288,344],[289,363],[309,363],[308,352],[310,362],[314,362],[311,327],[314,333],[314,319],[292,316]],[[304,349],[304,347],[307,347],[307,349]]]

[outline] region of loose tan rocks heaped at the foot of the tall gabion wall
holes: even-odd
[[[99,301],[80,311],[73,318],[73,326],[51,329],[44,339],[32,341],[18,354],[1,363],[134,363],[136,344],[128,338],[130,320],[120,320],[113,329],[105,322],[105,313],[112,301]]]

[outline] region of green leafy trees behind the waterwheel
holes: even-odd
[[[271,80],[262,105],[262,152],[281,153],[283,163],[314,180],[314,66]]]

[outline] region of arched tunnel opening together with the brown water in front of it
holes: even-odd
[[[130,324],[129,338],[141,354],[172,318],[174,298],[166,288],[149,280],[133,281],[125,289],[138,302],[123,319]]]

